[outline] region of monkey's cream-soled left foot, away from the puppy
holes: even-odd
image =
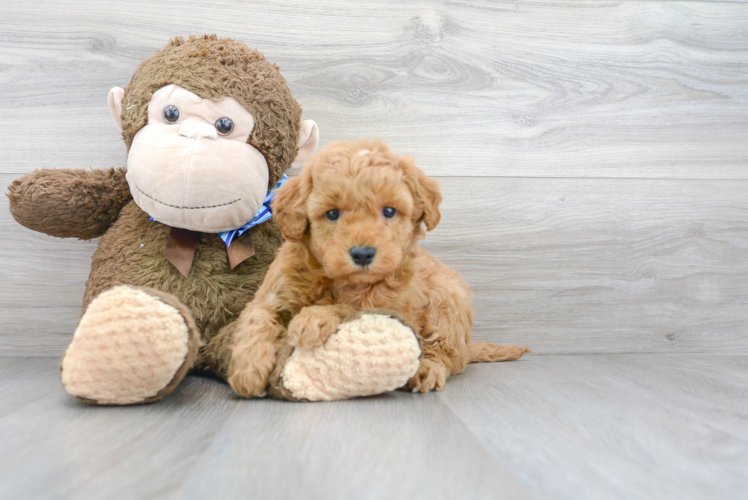
[[[89,403],[157,401],[184,378],[199,347],[192,314],[176,297],[116,286],[89,304],[60,378],[66,391]]]

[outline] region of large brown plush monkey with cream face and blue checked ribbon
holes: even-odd
[[[171,40],[108,104],[126,169],[37,170],[8,197],[27,228],[101,238],[60,376],[79,400],[124,405],[163,398],[191,369],[226,378],[235,320],[283,241],[274,189],[314,152],[319,133],[301,121],[276,65],[215,35]],[[328,351],[321,356],[337,359]],[[382,373],[350,389],[346,366],[327,364],[336,368],[323,385],[335,399],[392,390],[408,376]]]

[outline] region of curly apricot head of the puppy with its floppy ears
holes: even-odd
[[[409,158],[381,142],[333,144],[278,192],[273,208],[286,239],[303,241],[326,274],[373,283],[391,274],[439,220],[441,196]]]

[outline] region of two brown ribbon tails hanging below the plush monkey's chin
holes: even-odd
[[[166,241],[164,257],[174,264],[182,275],[187,278],[192,269],[192,261],[195,260],[197,244],[200,243],[202,233],[190,231],[189,229],[171,228],[169,239]],[[229,265],[233,270],[255,254],[250,231],[245,231],[238,238],[234,238],[226,253],[229,255]]]

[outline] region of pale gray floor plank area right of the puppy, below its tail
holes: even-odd
[[[747,361],[542,356],[472,366],[444,400],[540,498],[738,499]]]

